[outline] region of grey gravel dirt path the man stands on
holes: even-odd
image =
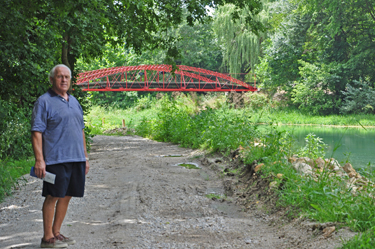
[[[182,157],[162,157],[181,154]],[[197,152],[136,136],[96,136],[86,193],[72,200],[62,233],[70,248],[336,248],[339,235],[313,236],[260,211],[242,212]],[[175,166],[198,163],[201,169]],[[0,248],[37,248],[42,236],[41,181],[0,204]],[[276,220],[275,220],[276,219]],[[272,225],[271,225],[272,224]],[[302,228],[304,230],[301,230]]]

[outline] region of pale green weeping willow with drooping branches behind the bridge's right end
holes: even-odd
[[[265,6],[265,5],[264,5]],[[267,22],[266,9],[252,13],[251,25],[246,16],[247,8],[240,10],[237,19],[233,19],[233,13],[238,8],[233,4],[226,4],[218,8],[214,17],[214,31],[219,43],[224,49],[223,67],[225,71],[241,80],[246,74],[254,70],[261,55],[261,43],[266,38],[265,23]]]

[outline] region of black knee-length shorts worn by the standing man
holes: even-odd
[[[83,197],[85,192],[86,162],[47,165],[46,170],[56,175],[55,184],[43,181],[42,196]]]

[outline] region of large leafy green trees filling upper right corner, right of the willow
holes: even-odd
[[[372,82],[375,76],[373,9],[368,0],[272,3],[269,11],[280,13],[279,26],[264,43],[257,70],[262,87],[286,91],[306,113],[345,112],[347,84],[361,78]],[[369,112],[372,105],[365,106]]]

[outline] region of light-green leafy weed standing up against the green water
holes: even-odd
[[[317,137],[313,133],[310,133],[306,136],[305,141],[306,146],[301,148],[301,150],[298,152],[298,156],[308,157],[312,159],[324,157],[327,145],[323,142],[321,138]]]

